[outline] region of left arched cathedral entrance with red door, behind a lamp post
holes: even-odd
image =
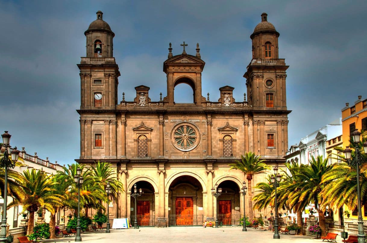
[[[152,184],[146,181],[139,181],[137,190],[142,189],[141,196],[137,197],[137,222],[139,226],[154,226],[155,225],[155,203],[154,203],[154,188]],[[134,192],[134,186],[130,188]],[[130,224],[135,221],[135,199],[131,197],[130,201]]]

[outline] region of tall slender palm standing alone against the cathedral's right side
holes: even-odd
[[[241,155],[241,160],[236,160],[235,163],[229,164],[230,169],[238,169],[246,174],[248,184],[248,208],[249,218],[252,219],[254,212],[252,209],[252,188],[251,182],[254,175],[266,173],[266,170],[270,169],[270,166],[265,164],[265,160],[260,160],[260,156],[255,153],[248,152],[245,155]]]

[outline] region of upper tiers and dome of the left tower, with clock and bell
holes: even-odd
[[[97,12],[94,20],[84,32],[87,39],[86,57],[80,64],[80,109],[115,109],[117,104],[117,77],[119,67],[113,57],[113,37],[110,26]]]

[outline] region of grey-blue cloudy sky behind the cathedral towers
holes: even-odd
[[[86,56],[84,31],[98,10],[109,23],[119,64],[119,98],[132,101],[134,87],[150,87],[152,101],[166,96],[168,43],[173,54],[195,55],[200,44],[203,96],[235,87],[243,100],[250,34],[268,13],[280,33],[285,58],[289,146],[341,116],[346,102],[367,97],[367,1],[5,1],[0,38],[0,129],[11,145],[51,162],[79,158],[80,78]],[[186,86],[182,86],[185,94]],[[182,101],[185,101],[182,98]],[[2,133],[2,132],[1,132]],[[288,147],[289,147],[288,146]]]

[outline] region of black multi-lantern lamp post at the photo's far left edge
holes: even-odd
[[[0,242],[6,243],[8,238],[6,237],[6,207],[8,198],[8,169],[15,167],[15,162],[18,160],[19,151],[17,147],[10,149],[10,137],[8,131],[5,131],[1,135],[3,137],[3,146],[1,146],[1,152],[4,153],[4,157],[0,161],[0,166],[4,168],[5,171],[5,182],[4,182],[4,206],[3,206],[3,217],[1,218],[1,229],[0,229]],[[11,159],[9,159],[9,153],[11,154]]]

